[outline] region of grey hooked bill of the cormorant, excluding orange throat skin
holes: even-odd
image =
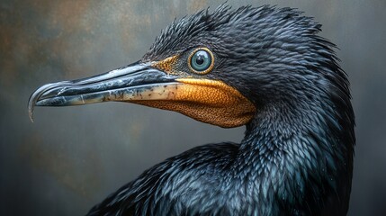
[[[34,106],[71,106],[107,101],[167,100],[180,83],[146,63],[133,63],[102,75],[41,86],[31,94],[28,110],[33,121]]]

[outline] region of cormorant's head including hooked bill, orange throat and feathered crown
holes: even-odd
[[[116,101],[228,128],[267,109],[285,112],[277,109],[284,103],[306,106],[328,88],[347,94],[333,45],[316,36],[319,27],[289,8],[204,10],[171,23],[136,63],[41,86],[31,95],[30,116],[35,105]]]

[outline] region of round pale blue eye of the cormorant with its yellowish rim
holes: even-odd
[[[189,66],[195,73],[209,73],[213,67],[213,54],[209,49],[196,49],[189,57]]]

